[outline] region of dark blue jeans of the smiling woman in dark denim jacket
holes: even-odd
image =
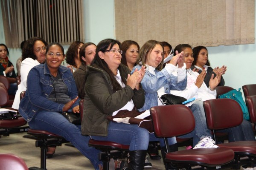
[[[99,150],[88,146],[89,136],[81,135],[81,125],[76,126],[67,121],[60,113],[51,111],[39,111],[29,122],[29,127],[35,130],[46,130],[64,137],[71,142],[85,157],[99,170]]]

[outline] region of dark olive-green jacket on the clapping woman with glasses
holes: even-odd
[[[128,67],[121,64],[126,76],[130,73]],[[120,71],[121,73],[121,71]],[[86,83],[84,87],[84,110],[81,125],[83,135],[107,136],[108,135],[108,115],[112,116],[114,111],[122,108],[131,99],[137,108],[142,108],[145,101],[144,91],[132,90],[130,86],[125,86],[114,92],[112,82],[107,72],[100,68],[87,65]]]

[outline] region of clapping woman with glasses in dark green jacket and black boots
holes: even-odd
[[[121,64],[119,46],[119,41],[102,40],[97,45],[92,64],[87,66],[82,134],[90,135],[95,140],[130,145],[130,169],[143,170],[148,142],[161,141],[164,144],[164,141],[137,125],[107,119],[107,116],[113,116],[120,110],[141,108],[145,101],[140,85],[145,67],[130,75],[129,68]]]

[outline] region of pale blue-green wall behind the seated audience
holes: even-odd
[[[97,44],[105,38],[115,38],[114,0],[84,0],[85,42]],[[1,9],[0,9],[1,10]],[[0,43],[3,39],[3,19],[0,11]],[[256,28],[256,26],[255,26]],[[68,46],[64,46],[67,50]],[[19,49],[10,49],[10,59],[15,64],[21,55]],[[256,84],[256,44],[209,47],[212,67],[227,65],[224,79],[227,86],[239,88]]]

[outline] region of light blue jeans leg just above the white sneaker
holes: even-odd
[[[193,103],[193,105],[189,106],[189,108],[195,118],[195,129],[186,135],[179,136],[179,138],[193,138],[193,146],[195,146],[198,144],[200,139],[204,137],[212,138],[212,133],[211,130],[207,128],[203,102],[197,101]]]

